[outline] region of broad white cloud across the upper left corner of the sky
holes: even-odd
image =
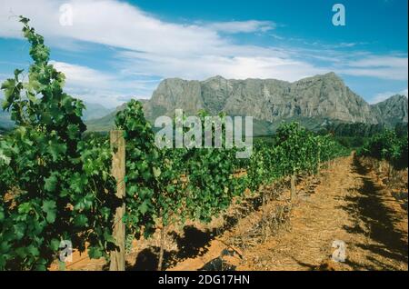
[[[72,26],[59,23],[62,4],[73,7]],[[214,30],[163,22],[133,5],[114,0],[2,0],[2,7],[9,9],[0,14],[1,36],[20,36],[21,25],[16,18],[10,18],[9,11],[13,11],[31,18],[37,31],[47,37],[69,37],[146,53],[200,54],[203,44],[215,48],[224,43]]]

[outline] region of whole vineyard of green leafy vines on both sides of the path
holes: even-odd
[[[332,135],[315,135],[297,123],[280,125],[269,142],[255,142],[248,159],[235,157],[238,148],[159,149],[135,100],[117,113],[111,138],[87,135],[85,105],[65,94],[65,75],[49,64],[44,38],[28,19],[20,22],[33,63],[28,74],[15,70],[1,86],[3,109],[16,126],[0,136],[0,270],[47,270],[63,240],[112,263],[134,240],[157,230],[163,239],[170,225],[211,222],[247,191],[289,179],[295,200],[300,176],[320,174],[328,161],[351,153]],[[125,172],[118,178],[113,155],[121,154],[121,145]],[[375,135],[358,155],[405,168],[407,135]],[[118,222],[125,229],[122,241]],[[163,242],[158,259],[161,270]],[[125,260],[119,263],[111,269],[124,270]]]

